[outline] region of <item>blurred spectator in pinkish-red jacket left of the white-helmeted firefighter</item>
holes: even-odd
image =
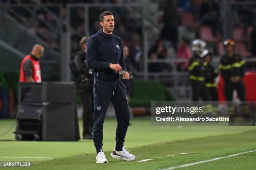
[[[185,37],[183,37],[179,41],[179,46],[177,50],[177,59],[189,59],[192,57],[192,52],[188,45],[189,45],[189,40]],[[188,62],[178,62],[176,64],[177,64],[178,71],[187,71]]]

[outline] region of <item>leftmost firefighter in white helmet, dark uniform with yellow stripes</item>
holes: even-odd
[[[193,40],[193,57],[189,60],[189,79],[192,85],[192,101],[198,101],[202,97],[204,101],[210,101],[210,94],[205,86],[205,65],[202,59],[202,52],[206,46],[203,40]]]

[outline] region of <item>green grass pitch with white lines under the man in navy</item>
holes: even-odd
[[[0,120],[0,134],[6,132],[15,120]],[[253,126],[151,126],[149,117],[134,118],[128,128],[125,147],[136,155],[126,162],[111,158],[115,146],[114,118],[106,119],[103,132],[103,150],[109,161],[95,163],[92,140],[79,142],[15,141],[13,131],[0,137],[0,162],[31,162],[31,167],[0,168],[6,170],[255,170],[256,152],[229,155],[256,150],[256,127]],[[79,121],[80,133],[82,122]],[[187,153],[187,154],[181,154]],[[1,158],[43,157],[43,158]],[[225,157],[225,158],[223,158]],[[53,159],[50,159],[53,158]],[[223,158],[206,163],[204,160]],[[150,159],[150,160],[149,160]],[[146,162],[138,162],[148,160]],[[189,165],[198,163],[196,165]],[[181,165],[187,167],[178,168]]]

